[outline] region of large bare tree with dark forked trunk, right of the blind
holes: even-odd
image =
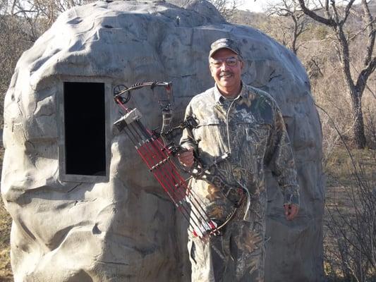
[[[298,0],[302,11],[316,20],[319,23],[331,27],[336,41],[336,52],[339,57],[341,65],[341,72],[347,86],[348,94],[351,97],[352,111],[353,111],[353,135],[358,149],[363,149],[366,146],[366,138],[364,131],[364,120],[362,110],[362,97],[367,80],[376,68],[376,56],[374,54],[375,47],[375,20],[370,13],[370,8],[366,0],[361,1],[361,17],[363,18],[364,26],[356,35],[348,35],[346,33],[345,24],[348,21],[349,15],[353,10],[353,3],[355,0],[349,0],[346,6],[339,6],[335,0],[318,0],[320,4],[320,13],[317,9],[313,10],[308,7],[307,1]],[[365,32],[367,35],[367,44],[365,44],[365,54],[363,56],[362,68],[355,72],[351,72],[351,54],[349,44],[354,37],[360,33]],[[359,52],[359,50],[357,50]]]

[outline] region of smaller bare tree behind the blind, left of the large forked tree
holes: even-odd
[[[267,7],[268,16],[280,16],[291,20],[287,25],[282,25],[283,44],[288,46],[293,54],[296,54],[299,46],[298,37],[305,32],[308,24],[308,17],[301,11],[298,0],[281,0],[277,4],[269,4]],[[285,34],[285,30],[289,35]],[[289,43],[286,42],[289,38]]]

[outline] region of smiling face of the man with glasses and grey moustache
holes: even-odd
[[[242,69],[243,61],[240,61],[238,55],[230,49],[219,49],[210,58],[210,72],[222,92],[231,93],[238,90]]]

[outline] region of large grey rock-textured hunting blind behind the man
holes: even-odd
[[[298,166],[296,221],[284,219],[269,178],[267,281],[321,280],[320,121],[296,56],[251,27],[225,23],[205,1],[186,10],[164,1],[98,1],[59,16],[21,56],[6,93],[1,194],[13,218],[16,281],[189,280],[184,223],[125,135],[109,130],[108,180],[59,178],[62,84],[172,81],[178,119],[190,97],[212,87],[207,54],[221,37],[238,40],[243,81],[277,100]],[[119,113],[106,94],[111,126]],[[134,102],[145,123],[159,125],[151,94]]]

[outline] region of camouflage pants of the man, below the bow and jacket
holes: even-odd
[[[264,281],[265,207],[260,208],[247,221],[237,214],[222,235],[189,238],[192,282]]]

